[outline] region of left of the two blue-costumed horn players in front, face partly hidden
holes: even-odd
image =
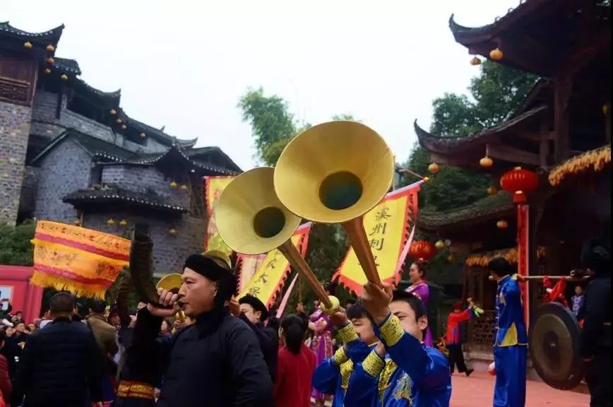
[[[353,367],[367,357],[378,340],[360,302],[348,307],[347,314],[343,310],[336,312],[330,320],[339,327],[338,336],[343,346],[316,368],[313,387],[323,394],[334,394],[332,406],[343,407]]]

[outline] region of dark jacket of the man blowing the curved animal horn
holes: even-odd
[[[138,312],[136,326],[161,318]],[[196,323],[179,330],[160,345],[165,365],[158,407],[268,407],[273,382],[258,339],[249,326],[226,309],[199,315]]]

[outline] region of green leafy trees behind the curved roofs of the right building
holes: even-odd
[[[470,81],[470,96],[445,93],[432,102],[430,131],[458,137],[496,126],[520,106],[536,81],[537,77],[530,73],[485,61],[480,75]],[[426,175],[430,163],[429,153],[415,143],[405,166]],[[404,175],[401,183],[415,180]],[[424,209],[433,211],[458,208],[483,198],[489,183],[489,176],[483,172],[441,165],[440,171],[422,187],[419,202]]]

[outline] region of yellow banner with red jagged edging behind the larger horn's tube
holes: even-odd
[[[417,193],[422,181],[388,193],[379,205],[364,215],[366,230],[381,281],[400,279],[400,270],[407,255],[417,220]],[[408,242],[408,244],[407,244]],[[367,283],[362,266],[350,247],[334,278],[356,295]]]

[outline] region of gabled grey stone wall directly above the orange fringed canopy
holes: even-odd
[[[35,217],[71,223],[77,212],[61,199],[89,186],[92,159],[70,139],[59,143],[40,161]]]

